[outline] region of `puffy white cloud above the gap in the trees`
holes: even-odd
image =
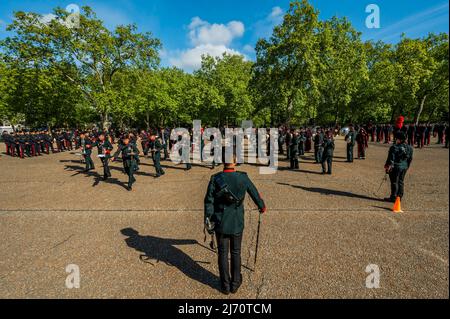
[[[240,21],[227,24],[209,23],[199,17],[194,17],[188,26],[188,36],[192,48],[177,51],[169,58],[169,63],[186,71],[193,71],[201,67],[202,56],[220,57],[224,53],[242,55],[229,46],[233,40],[245,33],[245,26]]]

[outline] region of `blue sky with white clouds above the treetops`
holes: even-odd
[[[395,43],[400,35],[422,37],[449,29],[449,4],[443,0],[310,0],[321,19],[347,17],[362,32],[364,40]],[[289,0],[0,0],[0,38],[14,11],[51,13],[56,6],[91,6],[108,28],[136,23],[140,31],[151,31],[163,42],[165,66],[195,69],[201,54],[222,52],[254,59],[253,47],[268,37],[281,22]],[[380,29],[365,25],[366,6],[380,8]]]

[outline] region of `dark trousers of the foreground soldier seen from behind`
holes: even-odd
[[[219,252],[220,282],[223,290],[239,288],[242,284],[241,275],[241,245],[242,234],[216,234]],[[228,254],[231,253],[231,273]]]

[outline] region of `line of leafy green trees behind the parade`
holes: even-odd
[[[256,61],[204,56],[187,73],[161,67],[161,41],[136,25],[107,29],[83,7],[79,25],[54,10],[15,12],[0,41],[0,119],[31,127],[335,125],[448,119],[448,34],[363,41],[346,18],[319,20],[293,1]]]

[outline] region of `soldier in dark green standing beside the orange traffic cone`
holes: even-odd
[[[397,197],[403,198],[406,173],[411,166],[414,150],[406,143],[403,132],[396,134],[396,143],[389,149],[389,155],[384,166],[391,180],[391,196],[385,201],[394,203]]]

